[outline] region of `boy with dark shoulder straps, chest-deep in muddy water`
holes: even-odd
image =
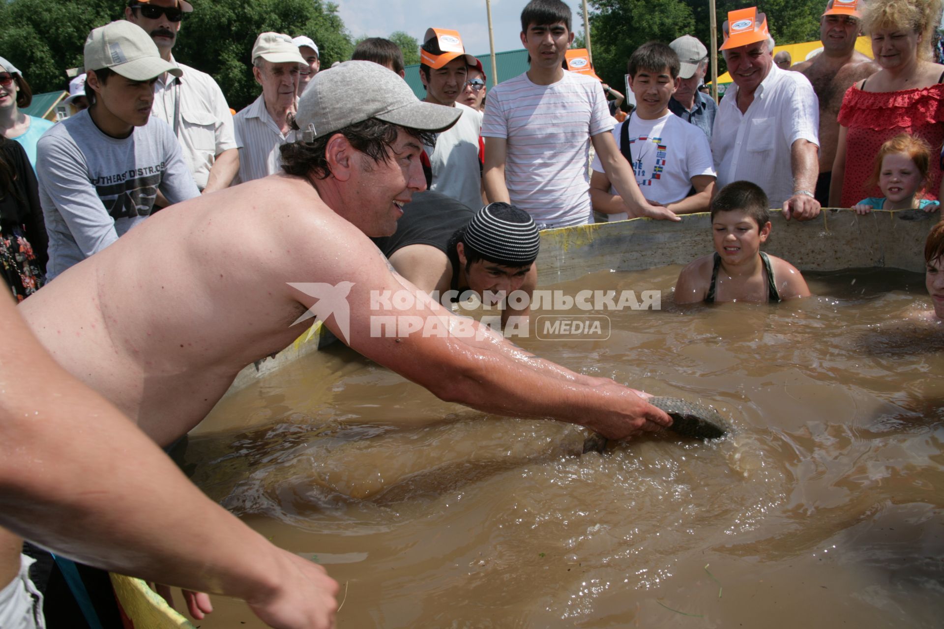
[[[767,194],[750,181],[734,181],[711,203],[715,253],[686,266],[675,303],[779,302],[809,297],[800,271],[760,250],[770,235]]]

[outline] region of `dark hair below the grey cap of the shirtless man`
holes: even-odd
[[[290,120],[293,129],[298,129],[294,119]],[[386,162],[390,159],[390,152],[402,129],[406,134],[424,144],[432,144],[435,134],[429,131],[420,131],[393,123],[385,123],[377,118],[368,118],[360,123],[350,124],[342,129],[326,134],[314,141],[294,141],[282,144],[279,152],[282,157],[282,170],[299,177],[313,175],[316,179],[327,179],[331,174],[331,167],[325,152],[328,142],[337,134],[341,134],[356,150],[374,160],[374,163]]]

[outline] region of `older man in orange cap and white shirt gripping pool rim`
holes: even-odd
[[[712,131],[717,186],[745,179],[784,216],[819,214],[819,105],[809,80],[773,63],[767,17],[756,7],[729,11],[721,51],[734,88],[721,100]]]

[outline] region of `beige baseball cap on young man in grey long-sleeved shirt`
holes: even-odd
[[[108,68],[132,81],[149,81],[165,72],[183,72],[160,58],[158,46],[141,26],[118,20],[93,28],[85,41],[86,70]]]

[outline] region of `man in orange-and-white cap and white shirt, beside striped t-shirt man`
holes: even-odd
[[[462,110],[459,122],[436,134],[426,145],[430,157],[430,190],[461,201],[465,206],[482,207],[479,134],[481,113],[457,103],[465,86],[468,66],[479,62],[466,55],[462,38],[454,30],[429,28],[420,47],[419,79],[426,88],[427,103]]]

